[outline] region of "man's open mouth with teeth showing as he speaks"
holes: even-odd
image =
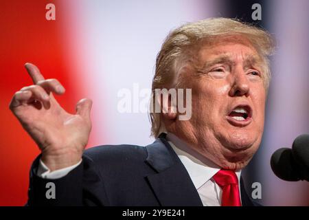
[[[238,105],[227,115],[227,120],[234,126],[246,126],[251,122],[252,109],[249,105]]]

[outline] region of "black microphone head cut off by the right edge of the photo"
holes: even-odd
[[[293,158],[299,167],[301,179],[309,179],[309,134],[296,137],[292,146]]]

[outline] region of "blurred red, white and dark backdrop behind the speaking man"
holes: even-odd
[[[47,3],[56,20],[45,18]],[[253,21],[259,3],[261,20]],[[265,206],[309,206],[308,182],[275,177],[271,154],[309,133],[309,1],[1,1],[0,2],[0,206],[23,206],[36,144],[9,111],[15,91],[32,80],[23,65],[36,64],[45,78],[58,78],[66,94],[57,97],[75,112],[81,98],[93,100],[93,129],[87,147],[153,142],[147,113],[120,113],[119,91],[133,97],[150,89],[155,58],[165,36],[179,25],[209,17],[255,23],[277,39],[271,58],[273,80],[266,106],[264,137],[243,170],[248,192],[262,185]],[[138,88],[137,88],[138,87]]]

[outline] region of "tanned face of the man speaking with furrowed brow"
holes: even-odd
[[[266,91],[262,61],[242,38],[218,39],[198,51],[198,70],[187,65],[180,80],[192,88],[192,118],[172,131],[219,166],[240,169],[258,150]]]

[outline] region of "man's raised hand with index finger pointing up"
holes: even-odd
[[[91,100],[80,100],[76,104],[76,114],[67,113],[52,94],[65,93],[58,80],[45,80],[38,67],[31,63],[26,63],[25,68],[34,85],[14,94],[11,111],[38,144],[41,159],[50,170],[77,164],[91,131]]]

